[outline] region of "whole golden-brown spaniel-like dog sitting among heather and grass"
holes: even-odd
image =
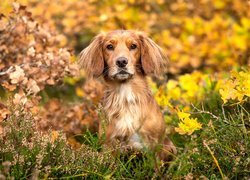
[[[152,39],[133,30],[101,33],[80,53],[78,63],[88,78],[104,79],[105,144],[120,144],[121,150],[150,149],[162,160],[176,154],[146,81],[147,75],[160,75],[167,65],[165,53]]]

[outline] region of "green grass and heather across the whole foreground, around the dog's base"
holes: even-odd
[[[5,131],[0,137],[0,177],[249,179],[248,104],[209,109],[207,103],[211,102],[202,106],[205,109],[193,107],[192,114],[203,124],[202,129],[191,136],[173,134],[171,139],[178,147],[178,155],[168,169],[160,170],[156,169],[152,153],[114,157],[89,131],[77,136],[82,145],[72,149],[63,133],[41,133],[30,114],[13,108],[12,115],[3,122]]]

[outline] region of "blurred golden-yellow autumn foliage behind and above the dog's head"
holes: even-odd
[[[168,53],[170,74],[231,70],[249,64],[247,0],[19,0],[32,17],[79,53],[101,31],[145,31]],[[0,12],[11,11],[2,0]]]

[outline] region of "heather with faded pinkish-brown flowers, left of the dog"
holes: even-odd
[[[62,133],[43,134],[31,114],[11,110],[0,136],[1,179],[100,178],[116,169],[110,153],[85,145],[73,150]]]

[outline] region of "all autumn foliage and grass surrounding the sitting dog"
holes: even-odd
[[[0,179],[250,177],[248,2],[18,2],[0,2]],[[114,158],[96,135],[102,84],[75,77],[77,53],[118,28],[171,60],[167,81],[148,79],[178,148],[168,169],[151,152]]]

